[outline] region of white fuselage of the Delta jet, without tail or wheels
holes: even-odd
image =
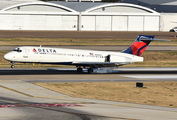
[[[17,49],[17,48],[16,48]],[[20,51],[11,51],[4,58],[11,62],[68,64],[73,63],[118,63],[119,65],[142,62],[143,57],[121,52],[61,49],[49,47],[18,47]],[[110,55],[110,60],[106,57]]]

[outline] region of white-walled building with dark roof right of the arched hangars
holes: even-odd
[[[169,31],[177,27],[177,1],[176,0],[122,0],[124,3],[132,3],[151,8],[160,13],[160,31]]]

